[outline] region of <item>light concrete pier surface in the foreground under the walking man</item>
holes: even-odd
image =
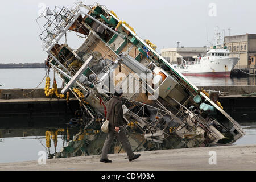
[[[210,151],[213,151],[212,153]],[[210,153],[209,153],[210,152]],[[213,153],[216,152],[216,164]],[[141,157],[129,162],[126,153],[109,154],[112,163],[101,163],[100,155],[2,163],[0,170],[86,170],[86,171],[171,171],[171,170],[256,170],[256,145],[184,148],[139,152]],[[210,154],[210,155],[209,155]],[[209,163],[210,160],[210,163]]]

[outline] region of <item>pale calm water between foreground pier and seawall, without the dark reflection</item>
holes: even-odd
[[[238,139],[234,145],[256,144],[256,122],[241,123],[246,135]],[[40,141],[42,143],[40,143]],[[67,142],[65,142],[67,144]],[[0,138],[0,163],[22,162],[30,160],[38,160],[39,151],[46,151],[46,139],[44,136],[31,137],[11,137]],[[63,138],[58,135],[56,152],[60,152],[63,148]],[[55,151],[54,144],[51,141],[51,154]]]

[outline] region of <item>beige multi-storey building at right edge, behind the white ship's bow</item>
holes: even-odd
[[[225,36],[224,45],[230,57],[239,57],[238,68],[256,68],[256,34]]]

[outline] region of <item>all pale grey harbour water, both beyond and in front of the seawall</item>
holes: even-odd
[[[34,89],[43,80],[46,75],[45,69],[0,69],[0,89],[14,89],[25,88]],[[49,73],[49,77],[53,78],[53,72]],[[255,77],[235,78],[235,77],[193,77],[187,76],[189,80],[196,86],[234,86],[234,85],[256,85]],[[53,79],[52,79],[53,80]],[[56,75],[56,81],[58,87],[62,82]],[[44,88],[44,80],[38,88]],[[256,114],[256,113],[255,113]],[[67,119],[68,120],[68,119]],[[5,122],[5,121],[0,121]],[[68,122],[68,121],[67,121]],[[256,144],[256,121],[237,121],[242,128],[246,131],[246,135],[241,139],[238,139],[236,145],[241,144]],[[44,133],[46,129],[43,130]],[[26,129],[23,129],[22,134],[16,135],[16,137],[8,137],[8,134],[12,136],[12,130],[2,128],[0,129],[0,163],[7,162],[22,162],[27,160],[38,160],[39,151],[46,151],[46,139],[42,135],[26,134]],[[3,137],[5,135],[6,137]],[[57,147],[51,146],[51,151],[60,152],[65,144],[63,135],[58,136]]]

